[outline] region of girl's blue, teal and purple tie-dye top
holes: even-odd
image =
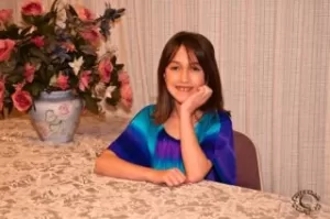
[[[142,109],[109,150],[119,157],[155,169],[177,167],[185,173],[180,141],[166,133],[152,119],[154,106]],[[205,113],[195,125],[199,145],[212,162],[205,179],[234,185],[237,182],[233,131],[224,112]]]

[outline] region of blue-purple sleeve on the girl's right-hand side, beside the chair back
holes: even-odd
[[[230,117],[219,112],[215,122],[200,143],[206,156],[212,162],[212,168],[206,179],[229,185],[237,183],[233,130]]]

